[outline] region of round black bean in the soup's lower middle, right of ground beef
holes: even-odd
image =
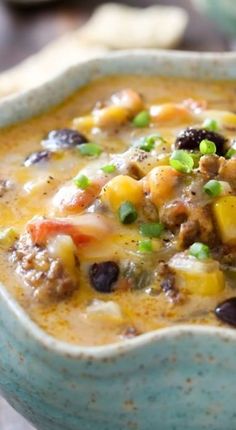
[[[94,263],[89,268],[89,279],[92,287],[100,293],[111,293],[119,277],[120,269],[114,261]]]

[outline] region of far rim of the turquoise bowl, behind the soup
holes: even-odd
[[[150,60],[151,66],[156,66],[158,61],[167,65],[167,69],[173,64],[177,65],[177,69],[181,68],[181,73],[175,73],[174,76],[193,77],[196,79],[206,78],[207,80],[216,79],[236,79],[236,52],[193,52],[193,51],[168,51],[155,49],[140,49],[126,50],[113,53],[103,53],[93,59],[78,62],[72,66],[66,67],[64,70],[55,74],[33,88],[19,91],[17,93],[3,97],[0,100],[0,129],[2,127],[13,125],[19,122],[37,116],[54,106],[59,105],[68,96],[73,94],[79,87],[87,85],[92,80],[101,77],[122,73],[121,71],[114,73],[116,67],[125,68],[126,63],[136,63],[137,65],[145,64]],[[182,65],[190,62],[191,67],[188,69]],[[102,68],[102,65],[105,67]],[[99,74],[99,68],[101,73]],[[112,70],[113,69],[113,70]],[[211,72],[209,73],[209,69]],[[112,70],[112,71],[111,71]],[[227,73],[225,73],[227,71]],[[63,90],[65,82],[74,79],[75,75],[88,75],[88,79],[82,83],[75,83],[74,86]],[[130,72],[128,72],[130,73]],[[134,72],[132,72],[134,73]],[[131,74],[132,74],[131,73]],[[149,75],[152,75],[150,73]],[[162,73],[160,75],[163,76]],[[59,93],[60,95],[56,95]],[[47,101],[46,95],[50,94],[51,102]],[[45,103],[35,104],[35,99],[41,101],[46,99]],[[29,113],[30,112],[30,113]],[[16,119],[13,120],[15,116]]]

